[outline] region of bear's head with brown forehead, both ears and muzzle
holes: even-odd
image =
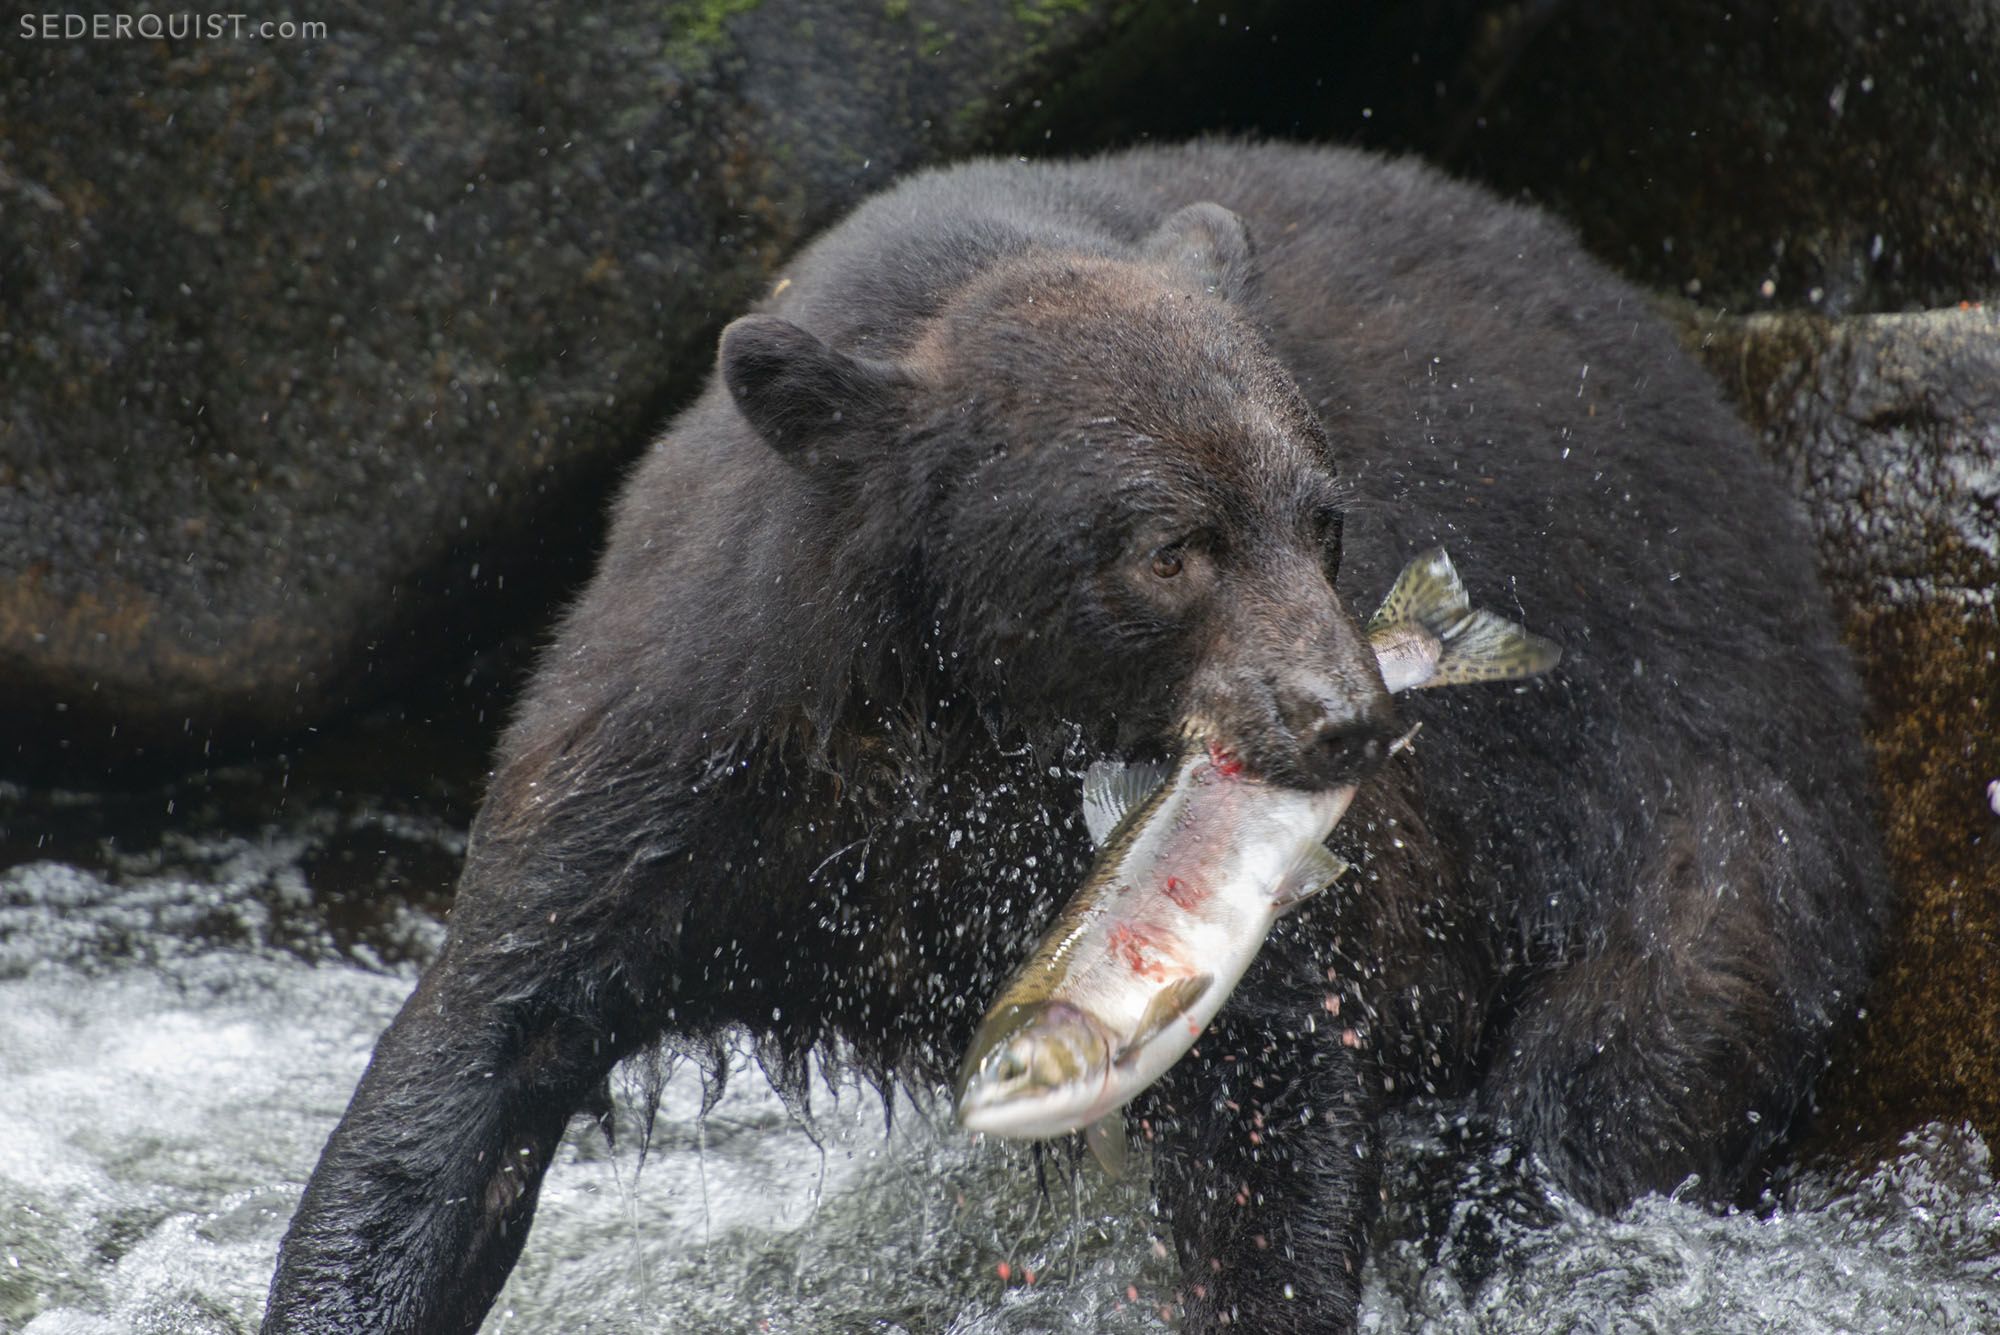
[[[1354,781],[1394,735],[1334,592],[1336,458],[1250,316],[1250,246],[1216,204],[1148,238],[1026,246],[898,340],[826,346],[776,316],[722,380],[876,564],[934,689],[1092,751],[1200,735],[1298,787]]]

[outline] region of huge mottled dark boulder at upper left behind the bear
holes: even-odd
[[[0,767],[94,781],[536,624],[778,258],[1042,84],[1214,32],[1112,0],[50,18],[0,76]]]

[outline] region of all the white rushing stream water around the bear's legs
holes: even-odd
[[[304,1177],[436,947],[458,827],[232,781],[278,815],[0,791],[0,1331],[256,1329]],[[700,1101],[692,1069],[668,1083],[644,1167],[630,1111],[610,1145],[572,1129],[488,1331],[1170,1329],[1144,1181],[838,1079],[810,1129],[744,1063]],[[1522,1177],[1454,1125],[1394,1127],[1366,1331],[2000,1331],[1970,1129],[1756,1213],[1604,1219],[1528,1179],[1536,1223],[1474,1227],[1454,1201]]]

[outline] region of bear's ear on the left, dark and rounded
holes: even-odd
[[[720,364],[736,410],[792,460],[882,420],[906,380],[894,366],[836,352],[778,316],[734,320],[722,330]]]

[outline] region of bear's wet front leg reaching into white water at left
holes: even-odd
[[[600,791],[548,767],[498,773],[444,949],[376,1043],[286,1231],[268,1335],[476,1331],[570,1117],[662,1023],[690,1023],[698,1003],[676,1011],[672,961],[696,917],[692,875],[686,857],[666,867],[684,805],[606,819]]]

